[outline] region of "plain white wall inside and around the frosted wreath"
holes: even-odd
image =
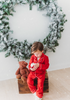
[[[56,52],[46,53],[50,61],[48,71],[70,67],[70,1],[58,0],[58,4],[62,7],[68,21],[65,23],[65,30],[59,40],[59,46],[56,47]],[[49,32],[48,23],[50,20],[48,17],[42,16],[42,13],[45,12],[37,11],[36,7],[33,6],[33,10],[29,13],[28,9],[28,5],[15,6],[16,13],[13,13],[13,17],[9,16],[10,28],[14,31],[11,37],[17,38],[19,41],[27,39],[28,42],[43,40],[46,33]],[[5,58],[5,53],[0,53],[0,81],[15,78],[15,72],[19,67],[17,59],[12,55]]]

